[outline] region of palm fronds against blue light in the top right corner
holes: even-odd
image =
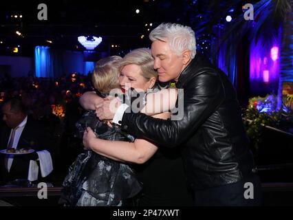
[[[230,8],[239,7],[242,3],[243,1],[241,0],[225,1],[220,10],[216,9],[216,7],[219,7],[218,1],[210,3],[208,10],[213,13],[211,19],[207,23],[197,25],[195,28],[197,35],[212,32],[213,27],[226,17]],[[237,18],[226,25],[220,45],[224,45],[227,41],[239,43],[243,36],[249,36],[248,40],[255,39],[255,43],[257,43],[259,36],[264,33],[265,36],[268,36],[265,39],[270,41],[270,39],[274,39],[277,36],[279,26],[285,19],[285,15],[292,10],[292,0],[261,0],[253,5],[254,20],[246,21],[243,19],[243,14],[239,14]],[[272,28],[272,24],[274,28]]]

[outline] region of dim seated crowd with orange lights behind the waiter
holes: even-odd
[[[55,175],[61,175],[62,180],[76,155],[83,151],[82,140],[74,136],[74,131],[76,121],[85,111],[78,99],[85,91],[94,89],[91,74],[73,73],[60,78],[6,76],[0,79],[0,88],[0,105],[10,98],[21,98],[28,114],[43,124],[54,143]]]

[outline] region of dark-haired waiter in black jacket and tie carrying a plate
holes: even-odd
[[[0,129],[0,148],[32,148],[33,153],[6,155],[1,153],[0,184],[14,179],[28,179],[30,160],[38,159],[36,151],[48,149],[47,135],[43,127],[26,113],[19,99],[11,99],[2,106],[3,121]],[[2,182],[1,182],[2,181]]]

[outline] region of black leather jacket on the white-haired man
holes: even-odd
[[[193,188],[235,183],[252,172],[252,153],[235,89],[221,70],[199,55],[184,69],[182,120],[160,120],[124,113],[122,128],[158,146],[182,146],[182,159]]]

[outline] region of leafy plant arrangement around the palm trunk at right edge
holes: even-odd
[[[277,98],[273,94],[264,98],[260,96],[250,98],[244,118],[246,132],[256,151],[261,144],[261,134],[265,126],[272,126],[281,131],[290,131],[293,128],[293,112],[290,104],[290,96],[284,96],[279,109]]]

